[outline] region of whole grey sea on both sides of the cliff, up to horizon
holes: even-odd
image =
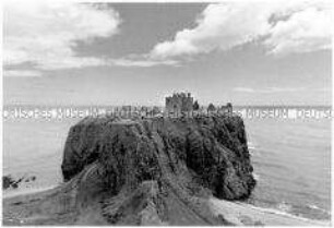
[[[60,165],[69,129],[83,118],[73,110],[64,112],[65,108],[56,112],[49,107],[25,108],[33,111],[4,107],[3,175],[35,176],[36,181],[4,190],[4,196],[60,184]],[[263,107],[258,111],[261,115],[247,112],[248,116],[243,116],[258,181],[244,203],[274,213],[329,221],[332,118],[327,112],[317,116],[312,112],[313,107],[307,108],[311,111],[297,107],[297,116],[295,110],[291,117]],[[318,107],[313,109],[319,110]],[[239,110],[241,113],[246,109],[239,107]],[[57,118],[51,118],[52,115]]]

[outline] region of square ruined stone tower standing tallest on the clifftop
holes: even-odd
[[[193,97],[190,93],[177,93],[166,97],[165,111],[167,113],[181,113],[192,111]]]

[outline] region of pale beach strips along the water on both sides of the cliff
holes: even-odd
[[[13,202],[28,203],[32,199],[43,199],[60,185],[3,194],[3,204],[11,207]],[[278,209],[257,207],[242,202],[231,202],[216,197],[211,197],[207,202],[214,214],[223,215],[226,220],[237,226],[331,226],[331,220],[299,217]],[[3,207],[3,209],[10,208]]]

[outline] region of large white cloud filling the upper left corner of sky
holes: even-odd
[[[56,70],[106,64],[79,57],[76,41],[90,43],[118,32],[120,19],[111,9],[65,1],[11,1],[3,5],[3,63],[31,62]]]

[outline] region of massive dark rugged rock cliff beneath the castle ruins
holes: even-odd
[[[75,206],[98,201],[109,224],[227,224],[205,197],[242,200],[255,185],[239,117],[87,118],[71,128],[61,169]]]

